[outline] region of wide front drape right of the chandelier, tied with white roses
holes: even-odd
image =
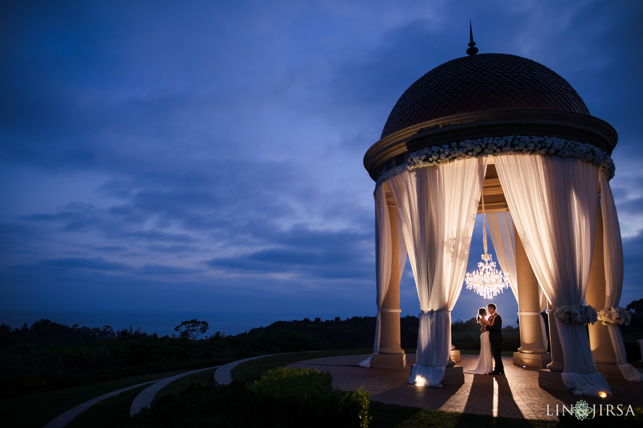
[[[516,230],[536,278],[556,309],[583,305],[592,264],[599,168],[574,158],[503,155],[495,158]],[[556,318],[565,369],[563,382],[577,395],[610,387],[596,372],[584,325]]]

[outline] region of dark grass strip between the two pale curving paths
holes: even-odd
[[[149,385],[130,389],[105,400],[99,401],[73,418],[66,428],[112,428],[129,424],[129,409],[134,398]]]

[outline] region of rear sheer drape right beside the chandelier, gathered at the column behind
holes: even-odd
[[[489,222],[489,234],[491,234],[491,242],[496,252],[496,259],[500,264],[500,269],[505,273],[509,273],[509,284],[511,284],[511,291],[514,293],[518,307],[520,308],[520,301],[518,300],[518,274],[516,273],[516,239],[514,237],[514,223],[511,220],[509,212],[491,212],[487,214],[487,221]],[[540,302],[539,312],[518,312],[518,315],[533,315],[540,318],[540,327],[543,334],[543,347],[547,349],[547,327],[545,327],[545,320],[541,312],[547,309],[547,298],[545,293],[538,286],[538,295]]]

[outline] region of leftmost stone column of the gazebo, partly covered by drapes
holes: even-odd
[[[374,368],[398,368],[406,366],[406,354],[401,347],[400,339],[400,276],[399,252],[397,239],[397,208],[388,186],[385,186],[388,215],[391,222],[391,279],[382,302],[380,313],[379,354],[373,354]],[[388,310],[388,311],[387,311]]]

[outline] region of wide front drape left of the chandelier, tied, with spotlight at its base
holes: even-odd
[[[420,300],[417,364],[409,382],[442,386],[451,309],[460,295],[487,158],[385,173]]]

